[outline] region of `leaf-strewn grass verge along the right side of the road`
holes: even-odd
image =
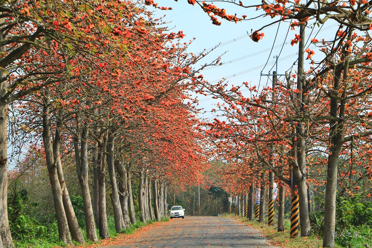
[[[225,217],[231,217],[244,225],[252,226],[253,228],[263,232],[267,238],[271,241],[272,245],[283,248],[321,248],[323,247],[323,239],[320,236],[312,235],[310,237],[301,237],[301,233],[298,238],[291,239],[289,236],[289,230],[291,222],[288,219],[284,220],[284,232],[278,232],[278,222],[274,222],[272,226],[267,226],[267,218],[265,222],[259,223],[257,220],[247,220],[245,217],[235,216],[235,214],[225,214]],[[335,245],[335,248],[342,248],[339,245]]]

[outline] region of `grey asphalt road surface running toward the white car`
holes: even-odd
[[[260,236],[261,235],[261,236]],[[171,220],[125,245],[111,248],[181,248],[181,247],[248,247],[275,248],[256,229],[230,218],[187,217]],[[127,242],[128,242],[127,241]]]

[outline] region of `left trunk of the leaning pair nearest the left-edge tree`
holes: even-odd
[[[60,238],[60,241],[65,242],[67,244],[72,244],[70,230],[68,229],[68,224],[67,224],[67,217],[66,217],[65,209],[63,207],[62,189],[58,181],[57,161],[54,159],[54,156],[53,156],[51,134],[49,130],[49,125],[50,125],[49,124],[49,101],[50,101],[49,92],[47,91],[45,95],[46,95],[46,99],[45,99],[45,105],[43,107],[42,137],[43,137],[43,142],[44,142],[45,159],[47,162],[49,179],[50,179],[50,183],[52,186],[51,188],[52,188],[52,193],[53,193],[54,208],[55,208],[55,214],[57,217],[57,225],[58,225],[58,236]],[[1,212],[1,209],[0,209],[0,212]],[[4,239],[2,232],[3,231],[1,231],[1,239]]]

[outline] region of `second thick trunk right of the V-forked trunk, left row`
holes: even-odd
[[[114,155],[114,142],[115,137],[113,137],[113,134],[110,133],[108,138],[108,144],[107,144],[107,166],[109,169],[109,176],[110,176],[110,184],[111,184],[111,202],[112,202],[112,208],[114,212],[114,220],[115,220],[115,230],[117,233],[121,232],[121,229],[125,228],[124,224],[124,217],[121,209],[121,204],[119,200],[119,193],[118,193],[118,186],[116,182],[116,175],[115,175],[115,155]]]

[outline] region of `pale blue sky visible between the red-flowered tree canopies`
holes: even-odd
[[[238,23],[222,20],[221,26],[215,26],[212,24],[209,16],[196,4],[193,7],[186,0],[179,0],[177,2],[174,0],[158,0],[156,2],[159,6],[172,7],[173,10],[156,10],[155,16],[166,15],[164,20],[169,22],[167,26],[173,28],[173,32],[183,31],[186,35],[184,38],[185,41],[193,37],[196,38],[192,45],[190,45],[189,52],[198,53],[203,49],[209,49],[221,43],[220,47],[215,49],[202,61],[202,63],[207,63],[222,53],[227,52],[222,56],[221,62],[225,63],[223,66],[216,66],[202,72],[204,78],[210,82],[220,80],[224,77],[232,85],[241,85],[242,82],[250,82],[252,86],[256,85],[262,88],[267,84],[270,85],[271,82],[270,80],[268,81],[267,76],[263,76],[260,81],[260,72],[263,70],[263,74],[269,73],[269,70],[274,66],[274,56],[279,55],[281,50],[278,62],[278,74],[285,74],[285,71],[288,71],[297,59],[298,45],[291,46],[290,42],[295,34],[299,34],[299,28],[296,28],[294,31],[289,30],[288,32],[289,23],[282,22],[279,28],[278,24],[265,28],[262,31],[265,34],[263,39],[259,42],[253,42],[247,32],[250,34],[251,29],[255,31],[277,19],[264,17]],[[228,14],[234,15],[236,13],[238,17],[247,15],[247,19],[260,15],[263,12],[262,10],[244,9],[220,2],[214,4],[225,8]],[[153,7],[148,7],[148,9],[154,10]],[[309,22],[309,24],[313,23],[312,21]],[[332,21],[326,22],[316,37],[319,40],[322,38],[332,39],[337,29],[337,23]],[[319,28],[316,25],[310,37],[314,38],[318,30]],[[305,35],[309,35],[311,31],[311,28],[307,28]],[[286,37],[287,32],[288,36]],[[306,41],[308,41],[308,37]],[[282,45],[283,43],[285,44]],[[307,45],[309,44],[310,40]],[[273,46],[274,48],[270,54]],[[311,47],[313,47],[312,44],[310,45]],[[313,50],[315,53],[320,54],[316,48]],[[315,54],[315,58],[316,56],[317,54]],[[266,61],[268,63],[264,68]],[[297,65],[293,67],[292,73],[294,73],[296,67]],[[305,60],[306,67],[309,67],[307,60]],[[273,70],[275,70],[275,67],[270,72],[272,73]],[[211,96],[199,96],[198,98],[200,101],[199,106],[203,107],[206,111],[214,108],[213,104],[218,102],[212,99]],[[213,117],[211,113],[206,113],[202,116],[206,118]]]

